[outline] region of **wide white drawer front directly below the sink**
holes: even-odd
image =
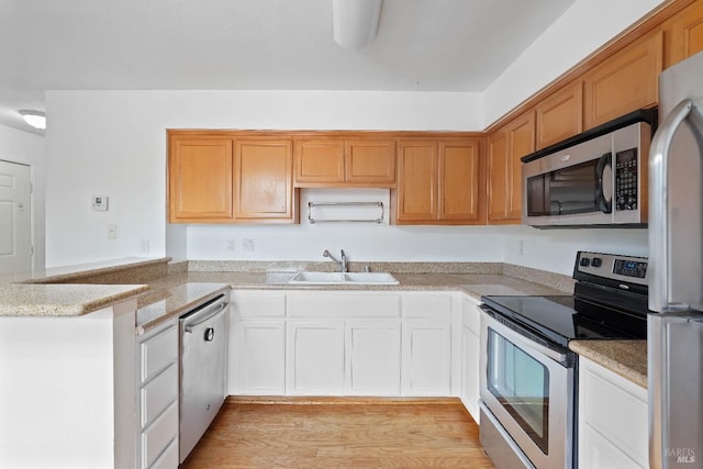
[[[290,317],[399,317],[400,295],[320,292],[289,294]]]

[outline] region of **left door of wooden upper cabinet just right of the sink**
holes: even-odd
[[[397,222],[437,220],[437,143],[401,142]]]

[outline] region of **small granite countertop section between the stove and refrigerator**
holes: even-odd
[[[647,389],[647,340],[572,340],[569,348]]]

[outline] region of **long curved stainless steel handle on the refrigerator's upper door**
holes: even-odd
[[[693,109],[684,99],[665,118],[649,152],[649,267],[656,272],[649,282],[649,309],[659,313],[687,309],[670,301],[668,172],[669,148],[677,131]],[[651,252],[656,250],[656,252]],[[657,264],[652,266],[652,264]]]

